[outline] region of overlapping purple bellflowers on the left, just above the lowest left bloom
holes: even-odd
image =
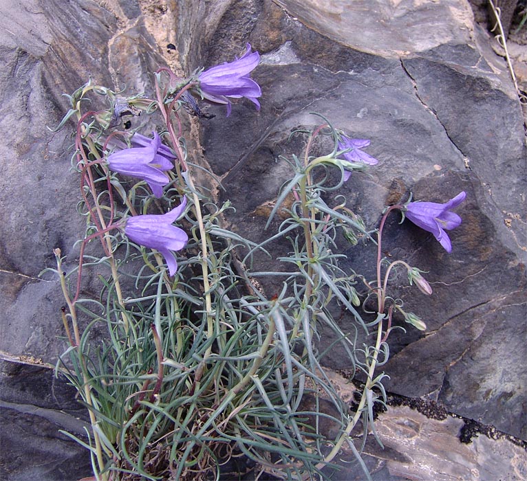
[[[156,132],[153,133],[153,139],[136,133],[131,143],[133,147],[118,150],[108,156],[110,170],[144,180],[155,197],[162,197],[163,186],[170,182],[164,171],[173,168],[171,159],[175,159],[175,156],[168,147],[161,144]]]

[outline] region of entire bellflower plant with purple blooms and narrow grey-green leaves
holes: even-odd
[[[445,204],[391,205],[378,229],[368,230],[344,197],[332,195],[332,176],[318,180],[314,174],[340,171],[338,188],[352,170],[382,164],[364,152],[369,140],[345,134],[326,119],[308,132],[303,152],[288,159],[292,175],[279,192],[268,228],[286,197],[293,200],[283,207],[288,215],[277,232],[260,245],[228,230],[229,203],[218,203],[197,183],[197,159],[189,159],[180,107],[200,122],[213,122],[197,104],[200,95],[226,104],[227,115],[232,98],[248,98],[259,109],[261,89],[250,78],[258,64],[258,52],[247,44],[237,60],[188,78],[163,67],[151,99],[118,98],[92,82],[68,96],[71,109],[61,126],[76,117],[74,168],[87,229],[76,267],[65,265],[60,249],[54,251],[54,272],[67,305],[61,312],[67,348],[58,370],[88,408],[89,440],[79,441],[92,456],[94,480],[219,479],[231,458],[240,470],[245,460],[255,477],[330,479],[343,445],[365,469],[356,435],[377,437],[374,405],[386,401],[385,374],[378,367],[389,357],[387,342],[398,321],[394,313],[426,328],[391,298],[390,273],[396,268],[407,270],[416,293],[432,295],[432,289],[418,268],[383,257],[385,221],[400,210],[450,249],[444,229],[460,224],[450,209],[464,192]],[[93,93],[109,101],[106,110],[82,110]],[[152,137],[120,131],[122,116],[138,113],[151,115],[158,131],[166,133],[166,145],[157,131]],[[119,140],[123,137],[129,141]],[[327,139],[327,153],[314,155],[316,138]],[[126,190],[122,177],[141,179],[152,192]],[[273,271],[267,263],[267,270],[252,270],[277,238],[291,245],[280,258],[286,269]],[[96,239],[98,254],[92,249],[85,255]],[[372,246],[373,279],[343,267],[336,249],[342,239]],[[90,294],[92,284],[84,289],[87,269],[100,280],[96,295]],[[270,278],[279,279],[281,289],[269,295]],[[344,333],[334,317],[342,311],[353,321],[351,332]],[[105,335],[97,337],[102,331]],[[322,335],[334,337],[352,372],[362,374],[352,411],[323,368]],[[330,434],[322,429],[328,418],[336,426]],[[359,421],[363,429],[357,429]],[[363,477],[369,479],[366,469]]]

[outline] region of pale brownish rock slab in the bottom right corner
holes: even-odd
[[[458,433],[463,423],[451,416],[430,419],[406,406],[390,407],[389,414],[379,416],[376,424],[385,449],[374,446],[366,451],[383,460],[380,466],[390,477],[405,480],[527,479],[524,447],[482,434],[460,445]]]

